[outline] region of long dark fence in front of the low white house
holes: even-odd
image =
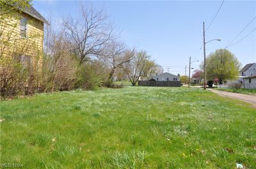
[[[139,81],[141,86],[180,87],[180,81]]]

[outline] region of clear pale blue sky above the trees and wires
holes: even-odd
[[[222,1],[93,1],[97,8],[106,8],[109,21],[120,40],[129,47],[147,50],[158,64],[169,72],[184,75],[185,65],[204,60],[202,47],[203,22],[209,26]],[[61,18],[79,15],[79,1],[33,1],[36,10],[44,17],[52,13],[54,26],[61,25]],[[86,2],[85,2],[86,3]],[[228,43],[256,16],[256,1],[224,1],[211,27],[206,31],[206,41],[220,38],[206,45],[206,54]],[[243,33],[240,40],[256,27],[256,19]],[[236,42],[234,41],[234,42]],[[256,61],[256,31],[241,42],[228,47],[243,66]],[[200,62],[193,62],[198,68]],[[187,71],[188,73],[188,71]]]

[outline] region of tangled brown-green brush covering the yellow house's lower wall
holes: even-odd
[[[1,97],[28,95],[40,91],[41,71],[37,57],[6,56],[1,58],[0,63]]]

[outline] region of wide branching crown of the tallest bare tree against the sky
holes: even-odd
[[[83,63],[102,54],[102,47],[113,39],[113,27],[104,10],[97,10],[92,4],[81,4],[80,14],[81,18],[63,19],[63,26],[72,52]]]

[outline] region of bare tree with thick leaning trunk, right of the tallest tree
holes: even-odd
[[[102,55],[102,61],[109,67],[109,76],[107,85],[110,87],[113,83],[113,75],[115,70],[122,68],[125,63],[130,62],[134,55],[134,50],[125,49],[125,45],[122,42],[110,41],[106,45],[104,55]]]

